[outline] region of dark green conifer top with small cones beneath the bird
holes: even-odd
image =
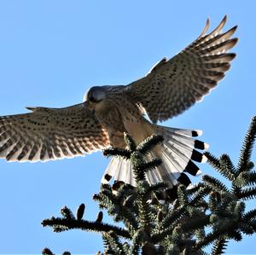
[[[130,159],[137,187],[125,183],[114,183],[114,187],[105,184],[93,197],[100,210],[105,209],[114,222],[121,222],[124,227],[104,223],[102,211],[93,222],[83,219],[84,204],[79,206],[76,215],[64,206],[62,217],[44,219],[42,224],[55,232],[81,229],[100,233],[105,250],[97,252],[98,255],[207,254],[204,248],[210,245],[212,255],[222,254],[230,240],[241,241],[243,235],[256,233],[256,208],[246,209],[247,200],[256,196],[256,172],[251,161],[255,136],[256,117],[247,130],[236,166],[228,154],[219,158],[205,154],[207,162],[229,186],[205,175],[192,188],[178,184],[173,200],[170,194],[175,189],[168,189],[166,183],[149,185],[146,179],[146,172],[161,161],[145,161],[144,155],[162,142],[162,137],[151,136],[136,145],[132,137],[125,134],[127,148],[109,148],[104,154]],[[165,194],[164,201],[160,199],[162,194]],[[44,248],[42,253],[53,254],[49,248]]]

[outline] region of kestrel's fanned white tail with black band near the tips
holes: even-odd
[[[172,188],[178,182],[189,185],[187,172],[192,176],[201,173],[193,161],[204,163],[207,158],[198,150],[208,148],[207,143],[195,139],[201,136],[201,130],[183,130],[154,125],[154,133],[164,137],[164,142],[147,154],[147,160],[160,158],[162,164],[146,173],[148,183],[168,183]],[[113,177],[115,182],[123,182],[136,186],[130,160],[113,157],[106,169],[102,183],[108,183]]]

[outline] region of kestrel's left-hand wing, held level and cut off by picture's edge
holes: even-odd
[[[109,145],[107,131],[86,108],[86,102],[65,108],[28,109],[32,113],[0,117],[0,158],[10,161],[72,158]]]

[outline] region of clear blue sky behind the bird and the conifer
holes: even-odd
[[[204,101],[164,125],[204,131],[213,154],[238,157],[255,115],[254,1],[0,1],[0,115],[26,106],[65,107],[82,101],[91,85],[128,84],[164,56],[194,40],[210,17],[216,26],[239,26],[237,58]],[[253,152],[255,159],[255,151]],[[61,206],[95,219],[92,200],[108,160],[102,153],[48,163],[0,160],[0,253],[96,253],[100,235],[43,228]],[[216,175],[207,165],[202,171]],[[254,202],[255,205],[255,202]],[[105,220],[108,220],[105,218]],[[229,253],[256,253],[255,235],[230,242]]]

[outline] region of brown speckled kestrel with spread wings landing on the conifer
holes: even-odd
[[[148,182],[168,183],[172,188],[183,172],[196,175],[193,161],[206,157],[197,149],[207,144],[196,140],[200,130],[184,130],[157,125],[183,113],[201,101],[230,69],[237,38],[236,26],[222,32],[226,16],[171,59],[162,59],[148,74],[127,85],[94,86],[84,101],[64,108],[27,107],[32,113],[0,117],[0,158],[9,161],[47,161],[72,158],[108,148],[125,148],[124,132],[136,143],[157,134],[164,142],[148,154],[162,165],[147,172]],[[148,118],[147,118],[148,117]],[[113,158],[102,183],[115,181],[135,186],[131,162]]]

